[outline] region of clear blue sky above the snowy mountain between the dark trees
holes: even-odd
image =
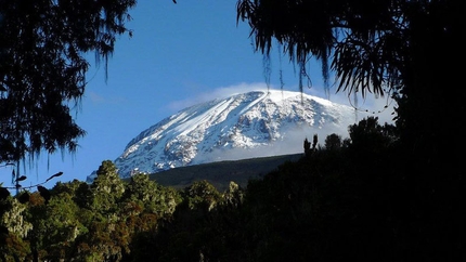
[[[267,87],[262,55],[254,51],[249,27],[244,22],[236,24],[236,0],[139,1],[130,14],[133,19],[127,27],[133,36],[117,40],[107,81],[103,63],[96,66],[93,55],[89,56],[89,83],[80,107],[73,113],[87,131],[77,153],[42,154],[33,167],[26,161],[21,166],[21,174],[28,178],[24,187],[41,184],[59,171],[64,174],[42,185],[85,181],[103,160],[115,160],[141,131],[178,110]],[[270,88],[280,89],[282,70],[284,89],[298,91],[295,67],[276,49],[271,70]],[[305,87],[305,92],[325,97],[318,64],[311,65],[309,75],[312,88]],[[331,101],[349,105],[347,94],[335,94],[335,88],[329,93]],[[362,108],[377,112],[385,104],[386,99],[379,99]],[[390,112],[377,116],[390,119]],[[12,186],[11,172],[11,167],[0,168],[3,186]]]

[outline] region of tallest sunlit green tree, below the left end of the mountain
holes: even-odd
[[[88,228],[76,240],[76,256],[87,261],[119,261],[128,252],[130,234],[122,215],[127,207],[120,201],[125,185],[111,160],[102,161],[96,173],[90,188],[79,186],[76,191],[75,199],[86,215],[82,224]]]

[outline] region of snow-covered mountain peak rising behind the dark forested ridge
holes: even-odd
[[[142,131],[114,161],[121,178],[218,160],[303,152],[318,133],[347,136],[352,107],[300,92],[240,93],[187,107]],[[345,133],[346,132],[346,133]]]

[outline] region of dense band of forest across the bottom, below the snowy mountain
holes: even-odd
[[[404,161],[397,132],[363,119],[348,139],[329,134],[298,161],[222,193],[207,181],[125,182],[103,161],[92,184],[2,199],[1,260],[464,260],[466,188],[446,193],[394,165]]]

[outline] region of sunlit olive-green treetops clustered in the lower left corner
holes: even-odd
[[[92,184],[59,182],[48,191],[29,194],[21,204],[8,196],[1,200],[0,240],[5,261],[129,261],[141,258],[145,247],[134,245],[150,238],[158,224],[170,221],[181,193],[137,174],[132,182],[119,179],[112,161],[102,161]]]

